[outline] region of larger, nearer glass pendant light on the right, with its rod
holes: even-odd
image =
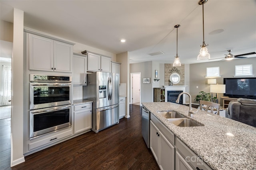
[[[206,45],[204,43],[204,4],[207,2],[207,0],[200,0],[198,2],[199,5],[203,6],[203,44],[201,45],[201,49],[200,49],[200,53],[197,56],[197,60],[204,60],[204,59],[210,59],[210,54],[208,53],[208,49],[206,48],[206,46],[208,46],[208,44]]]

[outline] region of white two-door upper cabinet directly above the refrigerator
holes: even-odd
[[[111,58],[94,53],[87,53],[88,62],[87,69],[88,71],[102,71],[102,72],[111,72]]]

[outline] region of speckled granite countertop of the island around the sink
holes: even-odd
[[[256,169],[256,128],[203,110],[188,116],[188,106],[170,102],[142,103],[176,137],[214,170]],[[195,108],[192,108],[196,111]],[[158,111],[178,111],[202,127],[178,127]],[[232,133],[234,136],[228,136]]]

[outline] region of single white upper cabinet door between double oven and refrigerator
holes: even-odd
[[[87,56],[73,55],[73,77],[74,85],[86,85]]]

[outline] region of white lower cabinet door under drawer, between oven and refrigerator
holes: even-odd
[[[92,128],[92,110],[74,112],[74,133],[79,133]]]

